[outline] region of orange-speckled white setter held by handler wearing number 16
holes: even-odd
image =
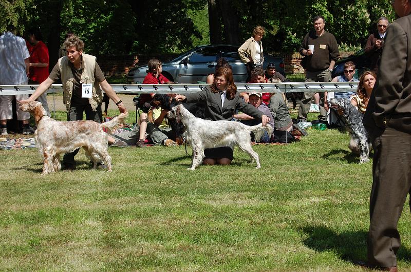
[[[94,161],[94,169],[97,168],[97,162],[102,161],[107,164],[107,170],[111,171],[111,157],[107,152],[108,135],[103,128],[111,134],[120,127],[128,113],[99,124],[95,121],[56,121],[47,116],[42,104],[37,101],[19,103],[18,107],[34,116],[37,125],[34,137],[44,162],[42,175],[59,171],[60,154],[73,152],[80,147]]]

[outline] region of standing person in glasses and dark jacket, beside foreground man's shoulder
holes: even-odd
[[[365,55],[370,59],[370,69],[377,73],[384,45],[385,32],[388,27],[388,19],[380,17],[377,22],[377,31],[369,35],[365,45]]]

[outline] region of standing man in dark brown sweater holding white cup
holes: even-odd
[[[304,56],[306,69],[305,82],[329,82],[335,61],[339,58],[338,44],[334,35],[324,30],[323,16],[316,16],[312,20],[314,30],[305,35],[300,46],[300,54]],[[314,53],[315,52],[315,53]],[[298,109],[298,121],[307,121],[311,100],[315,92],[305,92]],[[324,109],[324,93],[320,93],[320,115],[312,123],[327,123]]]

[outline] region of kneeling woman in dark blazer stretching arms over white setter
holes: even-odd
[[[247,104],[237,92],[233,74],[229,68],[219,68],[214,82],[198,93],[176,95],[177,101],[206,103],[206,119],[230,121],[236,110],[240,110],[266,125],[270,120],[262,112]],[[233,147],[217,147],[204,150],[203,164],[229,165],[233,160]]]

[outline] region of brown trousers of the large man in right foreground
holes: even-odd
[[[392,267],[401,245],[397,224],[411,187],[411,135],[386,128],[373,148],[368,262]]]

